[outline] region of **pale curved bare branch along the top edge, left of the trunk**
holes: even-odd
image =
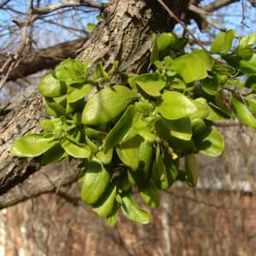
[[[63,9],[67,7],[74,7],[74,6],[86,6],[90,8],[96,8],[96,9],[104,9],[107,7],[108,4],[106,3],[98,3],[94,1],[67,1],[64,3],[55,3],[53,5],[50,5],[45,8],[34,8],[32,9],[32,14],[33,15],[48,15],[51,12],[54,12],[55,10],[58,9]]]

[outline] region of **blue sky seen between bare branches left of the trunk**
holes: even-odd
[[[43,0],[40,2],[40,7],[47,7],[51,4],[60,2],[61,1],[59,0]],[[107,0],[98,2],[108,3]],[[11,0],[8,4],[9,7],[15,9],[15,12],[8,9],[0,9],[0,47],[2,46],[1,48],[3,49],[4,42],[9,41],[11,36],[9,34],[10,28],[14,32],[14,35],[12,35],[14,38],[13,42],[9,46],[9,50],[11,50],[20,42],[20,29],[15,26],[11,20],[13,18],[19,20],[26,19],[26,11],[29,8],[29,1]],[[69,11],[66,11],[64,14],[63,10],[64,9],[59,9],[54,13],[44,15],[44,21],[35,21],[33,39],[37,42],[37,47],[44,48],[67,40],[84,37],[84,31],[86,30],[87,23],[97,23],[96,15],[98,15],[98,11],[96,9],[90,9],[90,12],[86,12],[86,10],[89,10],[88,8],[79,7],[69,9]],[[4,27],[6,27],[5,30],[3,29]],[[68,27],[74,27],[74,29],[68,30]]]

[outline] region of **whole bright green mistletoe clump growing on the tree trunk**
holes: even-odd
[[[178,180],[194,187],[196,154],[224,151],[214,123],[237,117],[256,128],[256,33],[234,38],[233,30],[221,32],[209,52],[186,53],[186,38],[154,35],[150,72],[130,74],[125,84],[109,82],[116,63],[108,72],[97,64],[90,74],[88,61],[63,61],[38,84],[50,118],[11,153],[41,155],[42,166],[79,159],[82,201],[108,224],[119,209],[148,224],[135,193],[155,208],[159,190]]]

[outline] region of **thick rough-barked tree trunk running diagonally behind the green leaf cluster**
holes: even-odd
[[[180,19],[187,17],[188,5],[187,0],[169,1],[170,9]],[[172,31],[175,24],[157,1],[110,0],[108,8],[102,13],[101,23],[85,41],[78,58],[88,58],[91,66],[102,61],[107,69],[117,60],[120,71],[143,73],[148,68],[152,34]],[[0,107],[0,195],[8,191],[12,193],[10,189],[15,186],[27,190],[27,181],[21,182],[40,169],[38,159],[15,158],[9,154],[9,148],[15,139],[26,132],[39,131],[38,124],[44,118],[44,101],[35,87],[28,88],[25,93],[12,100],[13,104]],[[78,177],[76,170],[74,173]],[[50,178],[51,173],[48,175]],[[63,175],[65,173],[61,172],[60,176]],[[67,179],[62,179],[65,180],[63,184],[68,183]],[[73,180],[72,176],[70,181]],[[29,177],[29,184],[38,187],[37,193],[31,196],[49,192],[49,188],[41,187],[38,178]],[[60,182],[59,185],[61,184]],[[2,201],[1,198],[3,197],[0,196],[0,208],[9,206],[8,201]],[[27,198],[28,196],[17,196],[12,198],[11,204]]]

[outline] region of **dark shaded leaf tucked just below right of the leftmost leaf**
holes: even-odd
[[[67,156],[67,152],[61,148],[61,144],[57,143],[44,153],[41,159],[41,166],[47,166],[50,163],[58,162]]]

